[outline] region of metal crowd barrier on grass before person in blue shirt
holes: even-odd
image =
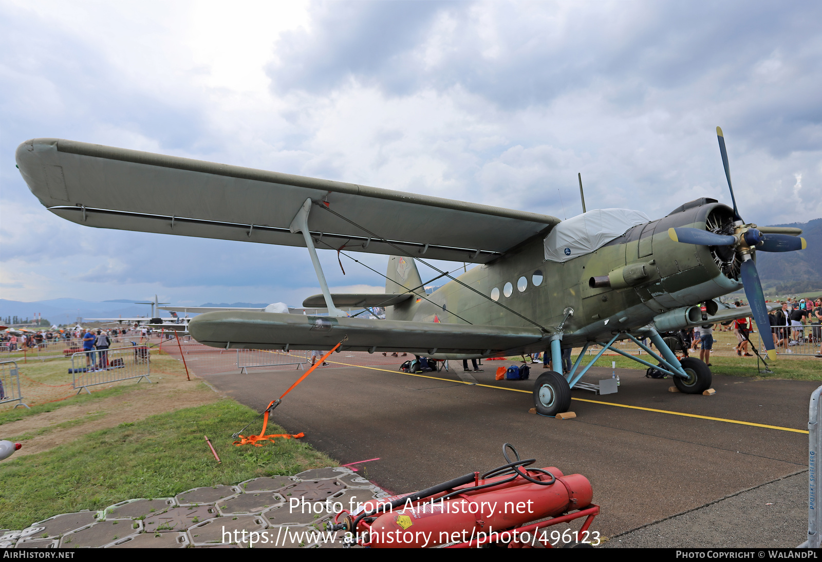
[[[72,387],[80,394],[88,387],[105,385],[118,380],[149,379],[151,372],[150,349],[145,345],[129,348],[93,349],[72,353]]]

